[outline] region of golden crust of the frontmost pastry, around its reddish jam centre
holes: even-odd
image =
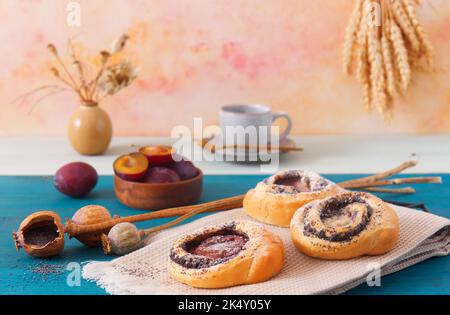
[[[211,261],[186,250],[189,242],[224,230],[248,238],[236,256]],[[169,272],[174,279],[193,287],[225,288],[266,281],[280,272],[283,262],[284,245],[280,237],[260,224],[233,221],[202,228],[175,241],[169,257]]]

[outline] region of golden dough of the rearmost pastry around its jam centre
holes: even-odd
[[[299,192],[294,187],[279,185],[283,178],[307,180],[310,190]],[[272,225],[289,227],[298,208],[317,199],[323,199],[345,190],[335,183],[308,171],[278,172],[247,192],[244,211],[249,216]]]

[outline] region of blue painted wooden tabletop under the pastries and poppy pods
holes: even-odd
[[[359,176],[327,177],[339,182]],[[380,196],[395,201],[426,203],[432,213],[449,218],[450,175],[442,176],[444,184],[416,185],[417,194],[414,195]],[[202,202],[242,194],[261,179],[263,176],[259,175],[205,176]],[[113,259],[104,256],[101,249],[87,248],[75,239],[66,239],[60,257],[40,260],[28,257],[23,251],[18,253],[11,237],[11,232],[34,211],[54,210],[64,219],[88,204],[101,204],[120,216],[140,212],[116,200],[111,176],[100,177],[95,190],[84,199],[60,194],[50,177],[0,177],[0,294],[105,294],[95,283],[84,280],[80,286],[67,284],[70,271],[66,266],[70,262]],[[138,226],[150,227],[167,220],[139,223]],[[380,287],[364,284],[347,294],[450,294],[450,256],[432,258],[383,277],[381,284]]]

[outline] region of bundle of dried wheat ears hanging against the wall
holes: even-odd
[[[433,48],[416,5],[419,0],[357,0],[345,33],[344,72],[352,74],[355,68],[364,104],[386,121],[392,118],[395,97],[407,92],[414,72],[433,69]],[[369,23],[377,13],[374,8],[381,8],[380,25]]]

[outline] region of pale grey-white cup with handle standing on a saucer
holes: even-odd
[[[287,113],[272,112],[262,104],[225,105],[220,110],[220,127],[224,144],[268,144],[273,136],[275,120],[284,118],[286,129],[279,134],[279,142],[286,139],[292,129],[292,120]]]

